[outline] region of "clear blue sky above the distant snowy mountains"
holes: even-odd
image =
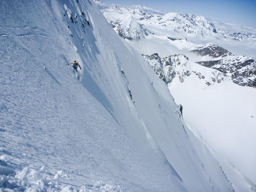
[[[256,0],[102,0],[113,4],[139,4],[167,12],[196,13],[206,18],[256,27]]]

